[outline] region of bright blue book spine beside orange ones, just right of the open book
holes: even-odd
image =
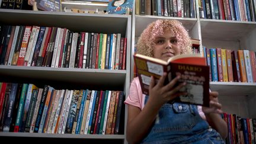
[[[218,81],[216,49],[210,49],[210,61],[212,69],[212,81]]]

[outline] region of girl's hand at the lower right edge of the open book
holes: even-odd
[[[210,107],[202,107],[204,114],[217,113],[222,114],[222,104],[218,100],[219,93],[216,91],[210,92]]]

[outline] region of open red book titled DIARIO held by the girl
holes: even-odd
[[[177,75],[181,76],[178,84],[187,84],[180,90],[187,92],[187,95],[181,95],[175,101],[209,107],[209,66],[206,65],[205,57],[200,54],[184,54],[170,57],[167,62],[140,54],[133,57],[143,94],[149,95],[151,76],[157,82],[167,72],[165,84]]]

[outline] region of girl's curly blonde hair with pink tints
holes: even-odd
[[[137,53],[153,57],[155,46],[153,41],[167,32],[174,33],[177,37],[177,43],[181,46],[181,54],[192,53],[190,36],[183,24],[177,20],[156,20],[149,24],[137,41]]]

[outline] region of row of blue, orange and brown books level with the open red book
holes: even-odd
[[[210,81],[256,82],[255,52],[203,47],[203,53],[210,67]]]

